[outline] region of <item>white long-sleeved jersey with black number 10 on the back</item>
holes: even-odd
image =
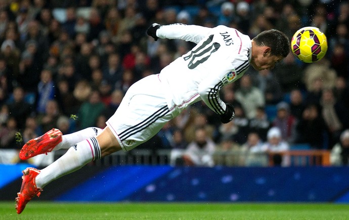
[[[224,85],[236,81],[248,69],[251,39],[223,25],[215,28],[164,25],[157,30],[156,35],[197,43],[159,74],[159,80],[167,93],[168,106],[183,109],[202,99],[215,113],[222,115],[226,104],[219,92]]]

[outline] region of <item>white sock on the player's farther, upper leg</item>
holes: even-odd
[[[69,149],[74,144],[86,140],[88,138],[96,137],[98,134],[100,134],[103,131],[103,129],[91,127],[91,128],[85,128],[81,131],[77,131],[71,134],[66,134],[62,136],[62,141],[57,144],[57,146],[53,150],[59,150],[59,149]]]

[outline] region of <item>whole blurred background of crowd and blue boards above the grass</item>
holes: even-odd
[[[313,64],[290,53],[273,70],[250,68],[222,91],[232,122],[195,103],[147,143],[50,184],[42,199],[349,201],[349,3],[326,0],[0,0],[1,199],[15,197],[23,169],[65,152],[20,161],[26,141],[52,128],[104,128],[130,85],[194,46],[154,41],[145,33],[154,22],[226,25],[250,38],[278,29],[291,39],[314,26],[328,51]]]

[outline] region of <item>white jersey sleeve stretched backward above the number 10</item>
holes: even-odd
[[[198,43],[211,31],[211,28],[198,25],[170,24],[162,25],[156,31],[159,38],[181,39]]]

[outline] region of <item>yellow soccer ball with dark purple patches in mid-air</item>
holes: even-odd
[[[303,27],[297,30],[291,40],[293,54],[304,63],[321,60],[327,51],[327,38],[317,27]]]

